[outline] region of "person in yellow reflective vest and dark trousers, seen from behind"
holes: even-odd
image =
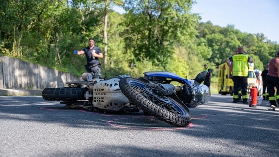
[[[253,59],[245,54],[244,47],[238,47],[238,54],[232,56],[232,63],[230,65],[230,77],[233,77],[233,103],[237,103],[238,89],[240,87],[243,104],[248,104],[247,78],[249,62],[253,63]]]

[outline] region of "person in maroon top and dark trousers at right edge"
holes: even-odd
[[[276,100],[279,103],[279,51],[277,52],[277,56],[272,58],[268,63],[269,70],[266,75],[267,81],[267,91],[269,94],[268,100],[270,103],[270,109],[276,109]],[[275,96],[275,89],[277,89]]]

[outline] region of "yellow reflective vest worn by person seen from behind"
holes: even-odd
[[[247,77],[249,73],[249,56],[237,54],[233,56],[233,76]]]

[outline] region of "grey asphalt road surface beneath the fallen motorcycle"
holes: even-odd
[[[174,127],[139,113],[65,109],[41,96],[0,96],[0,157],[278,157],[279,111],[213,94]]]

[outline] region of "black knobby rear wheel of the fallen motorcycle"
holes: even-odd
[[[45,88],[42,96],[47,101],[76,101],[85,100],[85,88],[63,87],[63,88]]]

